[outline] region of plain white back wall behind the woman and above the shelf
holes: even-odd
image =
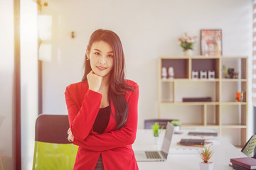
[[[52,14],[54,24],[52,58],[43,62],[43,113],[67,113],[65,86],[82,79],[87,42],[97,28],[114,30],[122,40],[127,79],[140,86],[139,128],[157,118],[158,58],[182,55],[177,39],[183,32],[200,37],[201,29],[220,28],[223,55],[252,53],[249,0],[49,0],[43,13]]]

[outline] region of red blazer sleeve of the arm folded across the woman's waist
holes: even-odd
[[[139,86],[136,86],[135,89],[136,91],[132,92],[127,101],[129,113],[127,123],[123,128],[103,134],[89,135],[82,141],[74,138],[73,144],[93,151],[104,151],[125,145],[132,145],[137,132]]]

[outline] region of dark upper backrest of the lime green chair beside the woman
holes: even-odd
[[[50,143],[70,143],[68,141],[68,115],[38,115],[35,140]]]

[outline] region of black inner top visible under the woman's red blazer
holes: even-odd
[[[105,108],[100,108],[100,111],[97,113],[95,123],[92,126],[93,131],[98,133],[103,133],[107,128],[107,125],[110,121],[110,106]]]

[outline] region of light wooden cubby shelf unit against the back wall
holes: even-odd
[[[163,78],[163,67],[167,71],[172,67],[174,75],[167,72]],[[239,98],[236,92],[240,92]],[[246,93],[247,57],[159,58],[159,118],[177,118],[186,128],[217,128],[233,145],[243,146],[247,139]],[[206,97],[211,101],[183,102],[184,98]]]

